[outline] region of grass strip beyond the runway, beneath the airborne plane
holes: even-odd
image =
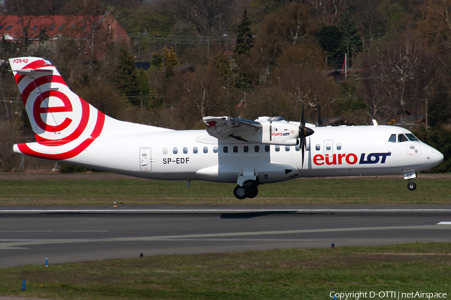
[[[38,175],[39,176],[39,175]],[[235,184],[111,178],[102,174],[83,178],[2,179],[0,204],[345,204],[450,203],[451,180],[417,178],[407,190],[400,177],[296,179],[259,186],[254,199],[238,200]]]

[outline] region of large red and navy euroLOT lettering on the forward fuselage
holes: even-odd
[[[391,152],[384,152],[384,153],[362,153],[360,154],[360,159],[358,159],[357,155],[354,153],[338,153],[338,154],[332,154],[332,155],[323,155],[323,154],[316,154],[313,156],[313,163],[316,165],[322,165],[322,164],[356,164],[357,161],[359,164],[374,164],[378,163],[385,163],[385,160],[387,156],[390,156]],[[365,157],[366,156],[366,157]]]

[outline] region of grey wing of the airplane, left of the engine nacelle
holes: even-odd
[[[263,125],[257,121],[245,120],[231,116],[205,116],[203,121],[208,125],[208,134],[217,139],[234,137],[249,141],[246,136],[254,135]]]

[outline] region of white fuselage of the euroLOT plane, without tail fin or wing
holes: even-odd
[[[142,127],[139,133],[102,132],[84,151],[64,161],[163,180],[237,183],[249,171],[260,183],[271,183],[299,177],[403,174],[431,168],[443,159],[420,141],[388,141],[391,134],[410,133],[396,126],[314,127],[315,133],[306,139],[304,165],[297,146],[218,140],[205,130],[145,132]]]

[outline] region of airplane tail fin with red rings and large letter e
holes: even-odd
[[[79,154],[100,135],[105,114],[67,86],[56,67],[39,57],[10,58],[10,65],[30,119],[39,153],[27,144],[15,152],[49,159]]]

